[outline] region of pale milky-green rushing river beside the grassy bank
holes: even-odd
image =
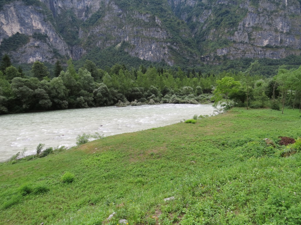
[[[76,137],[98,132],[104,136],[141,131],[178,123],[197,115],[212,115],[212,104],[160,104],[98,107],[0,116],[0,162],[39,143],[47,147],[74,146]]]

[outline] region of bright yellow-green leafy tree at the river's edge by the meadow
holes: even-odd
[[[216,88],[213,91],[213,97],[212,100],[214,100],[214,106],[216,107],[217,104],[222,103],[224,100],[226,100],[227,107],[229,107],[229,94],[231,91],[233,91],[234,88],[237,88],[240,86],[239,81],[234,81],[233,77],[225,76],[221,80],[216,81]]]

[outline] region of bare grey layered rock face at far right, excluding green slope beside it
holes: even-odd
[[[259,1],[259,7],[245,1],[240,7],[248,10],[233,36],[233,46],[217,49],[229,58],[284,58],[300,55],[299,1]],[[237,44],[239,43],[239,44]]]

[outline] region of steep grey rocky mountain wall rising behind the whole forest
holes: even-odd
[[[297,0],[3,0],[0,10],[0,51],[17,63],[108,48],[169,65],[300,55]]]

